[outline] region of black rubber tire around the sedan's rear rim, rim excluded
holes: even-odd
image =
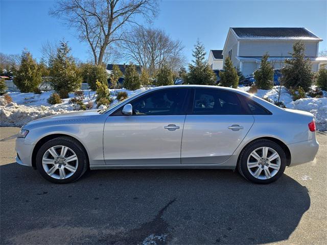
[[[267,179],[267,180],[260,180],[260,179],[256,179],[255,177],[253,177],[248,168],[247,168],[247,159],[249,157],[249,155],[255,150],[255,149],[258,149],[260,147],[263,147],[263,146],[267,146],[269,148],[272,148],[273,150],[275,150],[279,157],[281,157],[281,167],[279,168],[278,170],[278,173],[273,176],[272,178],[270,179]],[[279,179],[284,171],[285,171],[285,168],[286,168],[286,162],[287,162],[287,159],[286,159],[286,154],[285,154],[285,151],[283,150],[283,148],[278,145],[277,143],[271,141],[271,140],[258,140],[258,141],[254,141],[252,143],[250,143],[249,145],[246,146],[246,148],[242,151],[241,153],[241,158],[240,158],[240,161],[239,161],[239,170],[241,171],[241,174],[249,181],[251,182],[254,182],[254,183],[257,183],[257,184],[269,184],[269,183],[272,183],[274,181],[276,181],[277,179]]]

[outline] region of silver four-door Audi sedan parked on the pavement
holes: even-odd
[[[17,163],[54,183],[87,169],[223,168],[267,184],[318,151],[308,112],[247,92],[174,85],[135,94],[107,110],[44,117],[21,128]]]

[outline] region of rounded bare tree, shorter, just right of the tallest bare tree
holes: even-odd
[[[150,75],[163,64],[177,71],[185,63],[181,41],[172,40],[163,30],[137,27],[124,39],[120,42],[124,56],[148,69]]]

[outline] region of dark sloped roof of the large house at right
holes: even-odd
[[[298,27],[261,27],[231,28],[240,39],[317,39],[315,34],[306,28]]]

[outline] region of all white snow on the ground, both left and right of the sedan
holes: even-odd
[[[248,91],[250,87],[239,87],[239,89]],[[267,97],[272,101],[278,99],[278,86],[271,90],[259,89],[255,95],[258,97]],[[118,101],[115,99],[116,95],[120,91],[126,91],[128,96],[135,93],[144,91],[145,88],[130,91],[127,89],[116,89],[110,90],[111,97],[114,99],[111,105],[114,105]],[[89,101],[94,103],[96,109],[96,97],[95,91],[83,90],[84,91],[84,103],[87,104]],[[50,116],[54,114],[67,113],[74,110],[74,106],[69,104],[69,100],[74,97],[74,93],[69,94],[68,99],[64,99],[61,104],[50,105],[46,100],[49,98],[53,91],[43,91],[42,94],[34,93],[20,93],[20,92],[9,92],[8,94],[12,97],[13,103],[6,105],[4,103],[3,96],[0,96],[0,126],[17,126],[21,127],[31,120],[35,120],[40,117]],[[318,130],[327,130],[327,97],[324,92],[322,98],[311,98],[300,99],[297,101],[292,100],[292,96],[287,92],[287,89],[282,87],[280,101],[283,101],[285,106],[289,109],[297,109],[303,111],[309,111],[315,116],[316,126]]]

